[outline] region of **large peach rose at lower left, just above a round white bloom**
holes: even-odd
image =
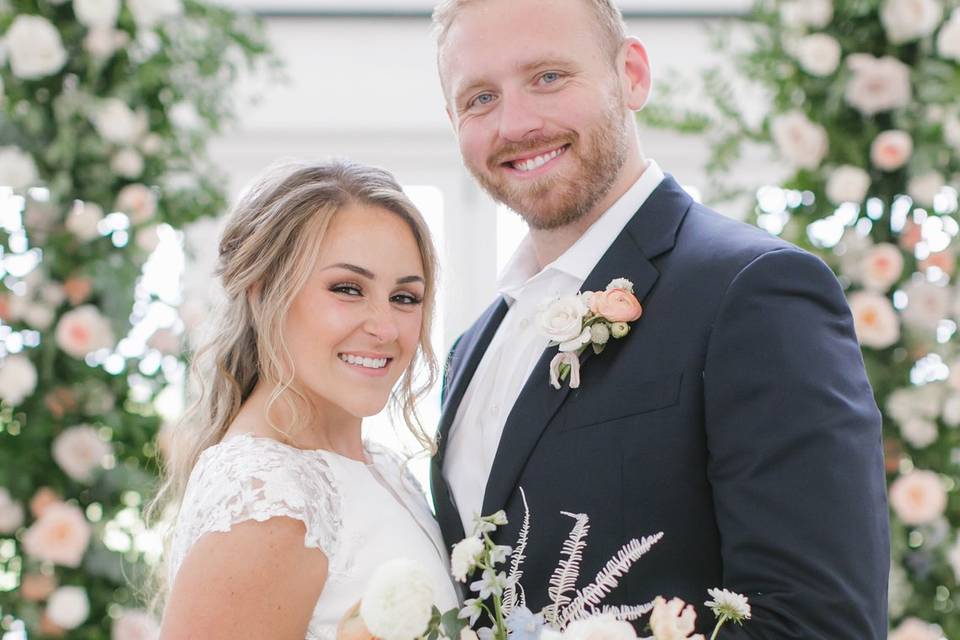
[[[27,529],[23,550],[38,560],[76,569],[87,552],[90,534],[90,524],[79,507],[54,504]]]

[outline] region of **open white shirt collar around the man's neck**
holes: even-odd
[[[537,257],[533,252],[533,242],[527,234],[500,274],[498,281],[500,295],[512,303],[519,297],[528,282],[548,271],[567,274],[582,284],[663,178],[663,170],[655,161],[650,160],[633,186],[590,225],[590,228],[573,246],[539,273]]]

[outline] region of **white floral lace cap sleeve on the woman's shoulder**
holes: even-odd
[[[330,571],[337,562],[341,503],[329,464],[305,451],[248,434],[201,454],[190,476],[170,553],[169,581],[200,536],[248,520],[287,517],[306,527],[304,546],[320,549]]]

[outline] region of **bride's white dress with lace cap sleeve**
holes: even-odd
[[[371,464],[249,434],[204,451],[177,518],[169,584],[203,534],[284,516],[303,522],[304,545],[322,550],[329,563],[306,640],[332,640],[370,576],[393,558],[410,558],[431,572],[441,611],[457,606],[440,530],[416,481],[395,454],[365,446]]]

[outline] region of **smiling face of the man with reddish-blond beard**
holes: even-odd
[[[583,0],[467,5],[440,74],[467,168],[538,229],[592,212],[628,154],[630,110]]]

